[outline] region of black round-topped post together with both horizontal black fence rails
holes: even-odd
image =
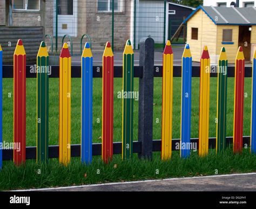
[[[26,77],[36,78],[35,72],[36,66],[26,66]],[[217,66],[212,66],[211,76],[217,77],[217,73],[212,73],[217,70]],[[234,77],[234,67],[227,68],[227,75],[229,77]],[[72,78],[81,77],[80,66],[72,66],[71,69]],[[13,78],[13,66],[4,65],[3,66],[3,78]],[[114,66],[114,77],[122,78],[123,67]],[[133,142],[133,152],[138,153],[139,157],[152,158],[153,151],[161,151],[161,140],[153,140],[153,81],[154,77],[163,76],[163,67],[154,66],[154,41],[152,38],[142,38],[140,40],[140,52],[139,52],[139,66],[134,66],[134,77],[139,78],[139,119],[138,119],[138,141]],[[181,76],[181,66],[173,67],[173,76]],[[192,67],[192,76],[200,76],[200,67]],[[252,68],[245,68],[245,77],[250,78],[252,76]],[[50,78],[59,77],[59,67],[51,66]],[[102,66],[93,66],[93,77],[102,78]],[[244,144],[250,145],[250,137],[244,136]],[[216,147],[216,139],[209,138],[209,147]],[[227,137],[227,144],[232,144],[233,137]],[[177,150],[177,143],[180,140],[172,140],[172,150]],[[198,138],[192,138],[191,143],[196,143],[198,147]],[[58,157],[58,145],[49,146],[49,157]],[[198,149],[198,148],[197,148]],[[92,155],[101,155],[102,144],[95,143],[92,144]],[[113,154],[122,153],[122,142],[115,142],[113,144]],[[13,150],[3,150],[3,159],[11,160],[13,155]],[[71,145],[71,156],[80,156],[80,145]],[[26,159],[36,158],[36,147],[26,148]]]

